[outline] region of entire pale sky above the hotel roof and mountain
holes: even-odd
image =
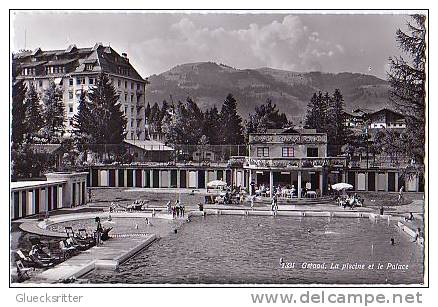
[[[148,77],[191,62],[386,78],[402,14],[13,12],[12,51],[110,44]],[[26,39],[25,39],[26,37]]]

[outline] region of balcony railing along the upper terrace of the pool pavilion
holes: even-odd
[[[313,168],[313,167],[345,167],[346,157],[315,158],[246,158],[244,166],[251,168]]]

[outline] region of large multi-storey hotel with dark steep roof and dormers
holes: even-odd
[[[100,73],[106,73],[119,94],[127,119],[126,139],[145,139],[146,80],[131,65],[126,53],[120,55],[101,43],[90,48],[70,45],[65,50],[21,51],[13,55],[12,63],[16,80],[24,80],[27,86],[33,83],[40,93],[48,87],[50,80],[61,87],[67,133],[73,128],[73,115],[78,111],[81,91],[92,87]]]

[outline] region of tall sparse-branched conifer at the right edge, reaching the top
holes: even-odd
[[[391,57],[390,100],[405,116],[401,149],[406,157],[424,163],[426,97],[426,16],[412,15],[407,32],[398,29],[396,41],[408,58]]]

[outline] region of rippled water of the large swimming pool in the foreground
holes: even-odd
[[[329,269],[332,263],[365,269]],[[85,278],[125,284],[420,284],[423,249],[386,221],[207,216],[152,244],[116,272],[93,271]]]

